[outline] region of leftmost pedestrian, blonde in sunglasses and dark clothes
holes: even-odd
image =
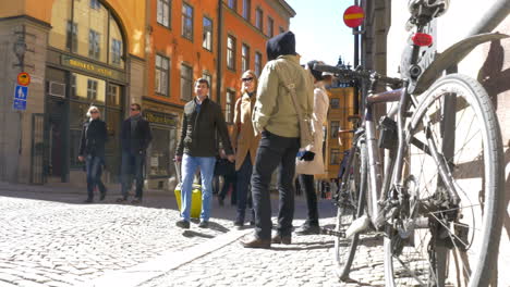
[[[88,120],[83,124],[80,139],[78,161],[85,161],[87,173],[87,199],[86,203],[94,201],[94,189],[100,191],[99,200],[106,197],[107,188],[101,182],[101,170],[105,164],[105,144],[107,141],[107,126],[101,121],[99,109],[90,105],[87,111]]]

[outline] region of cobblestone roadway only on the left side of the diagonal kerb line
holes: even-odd
[[[76,286],[163,251],[185,250],[229,232],[234,209],[214,204],[210,228],[174,226],[174,197],[139,205],[82,204],[84,195],[0,190],[0,286]],[[215,202],[216,203],[216,202]]]

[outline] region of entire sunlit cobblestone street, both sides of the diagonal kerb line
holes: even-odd
[[[244,249],[239,239],[252,229],[232,228],[230,204],[215,200],[210,228],[192,224],[183,233],[174,226],[173,196],[148,195],[141,205],[117,204],[116,198],[82,204],[77,194],[0,191],[0,286],[124,286],[110,285],[120,278],[145,287],[384,285],[381,248],[367,249],[377,240],[360,248],[366,262],[353,271],[356,282],[341,284],[330,236],[293,236],[290,246]],[[305,212],[304,198],[298,197],[295,226]],[[329,200],[320,201],[320,214],[321,224],[331,227]],[[135,283],[126,274],[143,276]]]

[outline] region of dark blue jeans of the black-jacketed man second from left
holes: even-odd
[[[132,154],[129,151],[122,151],[122,197],[127,198],[133,177],[136,180],[135,197],[142,199],[144,188],[144,163],[145,154]]]

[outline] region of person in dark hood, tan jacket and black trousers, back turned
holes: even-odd
[[[311,116],[314,111],[313,79],[300,65],[294,34],[289,30],[269,39],[266,49],[268,62],[260,74],[252,116],[255,134],[262,134],[252,175],[255,237],[241,242],[245,248],[270,248],[271,242],[291,244],[300,126],[292,95],[286,84],[294,85],[304,116]],[[277,167],[280,202],[277,234],[271,238],[269,183]]]

